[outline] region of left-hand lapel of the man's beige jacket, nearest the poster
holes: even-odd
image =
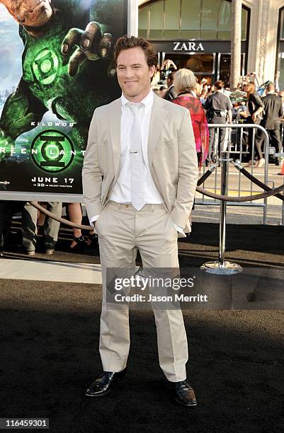
[[[111,146],[113,148],[113,168],[115,180],[120,172],[120,121],[121,121],[121,100],[113,101],[109,107],[108,125],[110,127]],[[106,127],[108,127],[106,125]]]

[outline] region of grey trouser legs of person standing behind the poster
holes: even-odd
[[[47,210],[52,214],[61,217],[62,214],[62,203],[61,202],[47,202]],[[35,250],[36,234],[37,234],[37,220],[38,220],[38,209],[28,202],[23,207],[22,214],[22,232],[23,232],[23,247],[30,251]],[[55,248],[57,243],[57,236],[59,231],[60,223],[55,219],[46,217],[45,224],[43,226],[43,234],[45,241],[45,248],[47,250]]]

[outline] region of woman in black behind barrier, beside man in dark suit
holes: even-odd
[[[263,112],[263,102],[259,93],[256,92],[256,85],[253,81],[249,81],[249,83],[244,84],[244,91],[246,92],[246,96],[248,98],[247,107],[249,109],[249,116],[246,117],[247,123],[253,123],[254,125],[260,125],[261,123],[261,112]],[[254,140],[254,137],[257,137],[256,132],[254,133],[253,128],[249,128],[249,155],[252,159],[249,160],[247,167],[250,167],[251,164],[254,164],[254,158],[256,159],[256,167],[264,166],[265,159],[262,156],[261,152],[261,144],[259,144],[259,140]],[[252,156],[254,142],[254,155]]]

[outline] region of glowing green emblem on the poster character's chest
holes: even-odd
[[[54,51],[44,48],[33,59],[33,75],[41,84],[51,84],[59,73],[59,59]]]

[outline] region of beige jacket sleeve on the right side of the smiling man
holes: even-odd
[[[198,159],[195,148],[191,115],[186,110],[178,131],[178,187],[171,219],[174,224],[185,227],[193,207],[198,180]]]

